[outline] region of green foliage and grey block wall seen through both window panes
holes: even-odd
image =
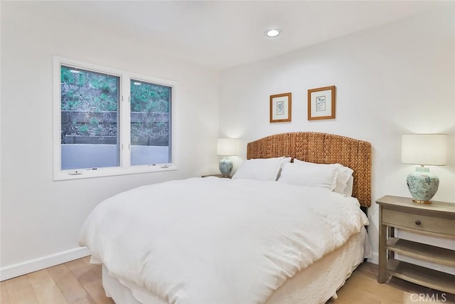
[[[67,139],[77,136],[112,137],[117,142],[120,78],[67,66],[60,71],[62,144],[73,143]],[[170,101],[170,87],[131,80],[132,145],[150,142],[144,137],[168,137]]]

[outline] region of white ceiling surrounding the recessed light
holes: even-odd
[[[448,1],[35,1],[29,9],[148,40],[222,70],[363,31]],[[51,13],[51,14],[49,14]],[[282,34],[267,38],[267,28]]]

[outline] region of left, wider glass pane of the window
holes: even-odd
[[[119,77],[61,66],[61,169],[119,166]]]

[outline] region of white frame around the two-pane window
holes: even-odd
[[[74,66],[83,70],[90,70],[98,73],[116,75],[119,81],[119,166],[118,167],[100,167],[92,169],[61,169],[61,66]],[[171,105],[170,105],[170,132],[171,143],[171,162],[166,164],[144,164],[131,165],[131,116],[130,116],[130,79],[141,80],[144,82],[154,83],[157,85],[166,85],[171,87]],[[176,117],[176,83],[171,80],[152,78],[146,75],[137,75],[125,70],[107,68],[101,65],[75,61],[73,59],[54,56],[53,58],[53,179],[85,179],[92,177],[108,177],[124,174],[138,174],[147,172],[166,172],[176,170],[176,141],[175,141],[175,117]]]

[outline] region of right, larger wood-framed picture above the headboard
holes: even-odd
[[[335,85],[308,90],[308,120],[335,118]]]

